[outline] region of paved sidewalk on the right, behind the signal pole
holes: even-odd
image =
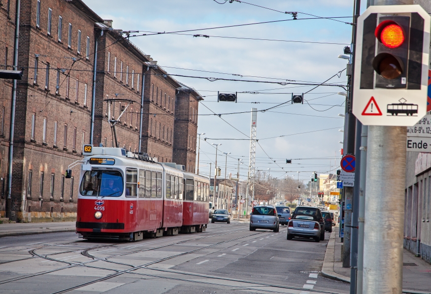
[[[343,267],[341,261],[341,238],[338,227],[332,230],[322,266],[322,275],[338,281],[350,283],[350,267]],[[431,264],[404,250],[402,292],[411,294],[431,294]]]

